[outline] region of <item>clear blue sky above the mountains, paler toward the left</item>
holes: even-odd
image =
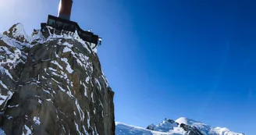
[[[251,1],[75,0],[71,19],[103,37],[116,121],[146,127],[186,116],[254,135],[256,8]],[[2,0],[1,27],[27,33],[59,0]]]

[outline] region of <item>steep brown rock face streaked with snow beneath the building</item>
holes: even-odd
[[[0,34],[0,124],[5,134],[115,134],[114,92],[76,33],[20,23]]]

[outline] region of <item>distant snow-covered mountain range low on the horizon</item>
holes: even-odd
[[[158,125],[151,124],[147,128],[130,126],[125,123],[116,122],[116,135],[244,135],[235,133],[227,128],[212,127],[193,119],[181,117],[176,119],[165,119]]]

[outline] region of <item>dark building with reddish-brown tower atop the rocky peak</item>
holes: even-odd
[[[101,38],[98,35],[90,31],[82,30],[76,22],[70,21],[71,9],[73,5],[73,0],[61,0],[59,4],[59,16],[48,16],[47,23],[41,23],[41,31],[47,31],[47,26],[55,28],[55,30],[66,30],[79,34],[80,38],[84,41],[95,44],[101,44]]]

